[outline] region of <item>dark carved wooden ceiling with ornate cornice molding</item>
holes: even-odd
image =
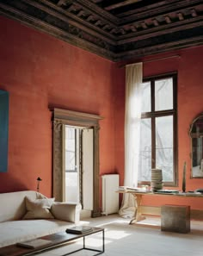
[[[2,0],[0,13],[113,61],[201,45],[201,0]]]

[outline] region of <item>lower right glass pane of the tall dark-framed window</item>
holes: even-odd
[[[163,170],[163,181],[173,181],[173,116],[156,118],[156,167]]]

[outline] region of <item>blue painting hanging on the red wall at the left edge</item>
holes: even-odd
[[[0,90],[0,172],[8,169],[9,93]]]

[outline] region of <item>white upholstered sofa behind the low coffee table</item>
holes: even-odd
[[[79,222],[81,205],[78,203],[53,202],[52,219],[23,219],[28,212],[28,198],[40,201],[35,199],[46,197],[33,190],[0,194],[0,247],[63,231]]]

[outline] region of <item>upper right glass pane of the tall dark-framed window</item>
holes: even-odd
[[[173,79],[155,81],[155,110],[173,109]]]

